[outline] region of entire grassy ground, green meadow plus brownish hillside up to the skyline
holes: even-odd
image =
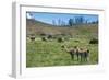
[[[27,22],[27,41],[26,41],[26,67],[48,67],[48,66],[73,66],[73,65],[95,65],[98,64],[98,44],[89,44],[92,38],[98,38],[98,25],[88,24],[73,27],[51,26],[40,22]],[[64,42],[59,43],[57,38],[51,41],[43,41],[39,34],[60,33],[70,34],[71,36],[62,36]],[[36,41],[29,39],[29,34],[35,34]],[[57,36],[58,37],[58,36]],[[62,50],[62,45],[70,47],[78,46],[89,49],[89,60],[81,61]]]

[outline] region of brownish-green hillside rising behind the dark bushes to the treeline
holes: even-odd
[[[70,34],[70,35],[97,35],[97,24],[85,24],[77,26],[55,26],[35,20],[26,20],[26,33],[29,34]],[[98,36],[98,35],[97,35]]]

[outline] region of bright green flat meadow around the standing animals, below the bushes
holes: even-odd
[[[44,66],[69,66],[69,65],[94,65],[98,62],[98,45],[88,44],[89,39],[76,38],[58,43],[57,41],[27,41],[27,67],[44,67]],[[71,56],[65,50],[62,50],[61,45],[87,47],[90,50],[89,61],[81,61],[71,59]]]

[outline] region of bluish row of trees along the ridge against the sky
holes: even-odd
[[[73,26],[73,25],[80,25],[80,24],[98,24],[98,20],[89,21],[89,20],[86,20],[84,16],[75,16],[75,18],[69,19],[68,22],[61,19],[58,19],[57,22],[52,20],[52,24],[58,25],[58,26]]]

